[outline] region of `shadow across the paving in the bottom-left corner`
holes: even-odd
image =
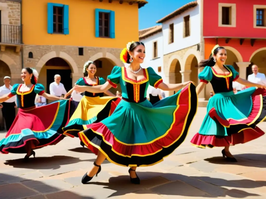
[[[0,174],[0,197],[17,199],[17,198],[39,198],[39,199],[94,199],[93,197],[80,196],[71,191],[62,191],[60,185],[56,187],[45,184],[41,181],[27,180],[17,176]],[[12,179],[16,183],[5,184],[5,181]]]

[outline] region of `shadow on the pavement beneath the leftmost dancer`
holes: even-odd
[[[96,158],[96,156],[95,156]],[[94,162],[95,159],[81,160],[80,158],[55,155],[52,157],[36,157],[29,158],[28,162],[23,159],[6,160],[5,165],[13,166],[14,168],[30,168],[30,169],[58,169],[61,165],[70,165],[78,162]],[[109,162],[104,161],[103,164]],[[1,178],[0,178],[1,179]]]

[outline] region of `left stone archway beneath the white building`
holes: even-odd
[[[180,73],[181,65],[178,59],[173,59],[170,64],[169,70],[169,83],[170,84],[178,84],[182,83],[182,75]],[[169,96],[173,95],[175,91],[169,91]]]

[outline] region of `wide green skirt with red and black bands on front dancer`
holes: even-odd
[[[196,87],[189,84],[154,105],[122,100],[111,116],[86,125],[78,136],[92,152],[100,150],[117,165],[151,166],[185,140],[196,111]]]

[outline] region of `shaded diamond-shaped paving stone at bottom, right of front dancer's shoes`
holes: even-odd
[[[168,195],[173,195],[175,197],[201,197],[206,194],[203,191],[181,181],[174,181],[171,183],[163,184],[158,187],[152,188],[151,191],[161,195],[165,195],[166,197],[168,197]]]

